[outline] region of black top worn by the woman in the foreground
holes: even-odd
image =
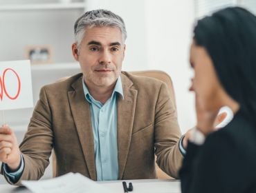
[[[188,143],[180,171],[183,193],[256,192],[256,127],[239,111],[201,146]]]

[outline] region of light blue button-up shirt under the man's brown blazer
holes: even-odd
[[[119,77],[111,97],[104,104],[93,99],[84,81],[82,81],[82,84],[85,99],[90,104],[97,180],[117,180],[117,95],[120,94],[123,98],[122,81]]]

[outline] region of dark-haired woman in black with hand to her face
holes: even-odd
[[[256,192],[256,17],[226,8],[198,21],[190,63],[197,124],[180,171],[182,192]],[[223,105],[234,117],[212,132]]]

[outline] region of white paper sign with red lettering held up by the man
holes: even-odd
[[[30,61],[0,62],[0,110],[33,108]]]

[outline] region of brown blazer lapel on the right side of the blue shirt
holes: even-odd
[[[122,179],[134,125],[137,90],[131,89],[133,83],[121,74],[124,99],[118,97],[118,179]]]

